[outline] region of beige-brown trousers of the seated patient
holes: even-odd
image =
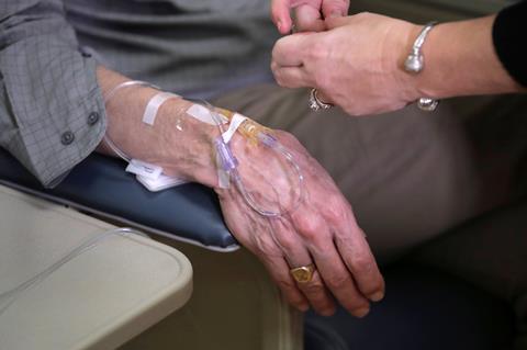
[[[412,251],[512,302],[526,335],[527,205],[511,203],[527,191],[527,97],[354,117],[315,113],[307,95],[265,84],[214,103],[294,134],[351,203],[381,264]]]

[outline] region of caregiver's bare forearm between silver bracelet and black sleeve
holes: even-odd
[[[403,72],[414,97],[449,98],[525,90],[508,75],[495,53],[494,19],[495,15],[444,23],[433,29],[423,47],[425,69],[418,75]],[[419,31],[421,26],[414,26],[408,32],[401,67]]]

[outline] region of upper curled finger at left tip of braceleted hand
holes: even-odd
[[[311,35],[298,33],[280,38],[272,48],[272,60],[282,67],[301,66],[310,49]]]

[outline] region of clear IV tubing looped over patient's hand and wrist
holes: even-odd
[[[131,86],[142,86],[142,87],[149,87],[149,88],[154,88],[154,89],[157,89],[159,91],[162,91],[159,87],[155,86],[155,84],[152,84],[149,82],[146,82],[146,81],[141,81],[141,80],[131,80],[131,81],[126,81],[126,82],[123,82],[121,84],[117,84],[116,87],[114,87],[112,90],[110,90],[110,92],[106,93],[106,95],[104,97],[104,103],[106,103],[108,101],[110,101],[110,99],[119,91],[121,90],[122,88],[126,88],[126,87],[131,87]],[[216,126],[218,127],[220,129],[220,134],[223,135],[223,133],[225,133],[225,127],[224,127],[224,124],[223,124],[223,121],[222,118],[217,115],[217,112],[215,112],[215,108],[210,104],[209,102],[204,101],[204,100],[192,100],[192,99],[189,99],[189,101],[191,102],[195,102],[195,103],[200,103],[204,106],[206,106],[208,111],[211,113],[212,115],[212,118],[214,120],[214,123],[216,124]],[[215,142],[215,147],[216,147],[216,151],[220,154],[221,156],[221,159],[222,159],[222,167],[225,172],[227,172],[231,178],[233,179],[235,185],[236,185],[236,189],[239,191],[239,193],[242,194],[242,196],[244,197],[244,201],[247,203],[247,205],[254,210],[255,212],[257,212],[258,214],[262,215],[262,216],[267,216],[267,217],[279,217],[279,216],[282,216],[282,215],[285,215],[287,213],[292,213],[294,212],[300,203],[302,202],[302,199],[303,199],[303,176],[302,176],[302,171],[299,167],[299,165],[296,163],[296,161],[294,160],[293,156],[289,153],[289,150],[285,149],[285,147],[283,147],[272,135],[268,134],[268,133],[264,133],[264,132],[259,132],[258,133],[258,139],[264,144],[266,145],[267,147],[271,148],[272,150],[274,150],[276,153],[278,153],[279,155],[282,155],[287,161],[291,165],[291,167],[294,169],[298,178],[299,178],[299,195],[296,197],[296,201],[294,202],[293,206],[288,210],[288,211],[279,211],[279,212],[272,212],[272,211],[267,211],[265,208],[261,208],[255,197],[253,196],[253,194],[250,194],[250,192],[247,191],[247,189],[245,188],[244,185],[244,182],[242,180],[242,177],[237,170],[237,160],[236,160],[236,157],[234,157],[232,150],[231,150],[231,147],[228,146],[228,144],[226,144],[222,136],[220,135],[220,137],[216,139]],[[112,139],[108,136],[108,134],[104,134],[104,143],[119,156],[121,157],[123,160],[125,160],[126,162],[130,162],[132,159],[125,154],[123,153],[113,142]]]

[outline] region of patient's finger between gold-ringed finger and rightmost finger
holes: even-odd
[[[369,301],[357,289],[354,276],[344,263],[332,239],[311,251],[325,285],[350,314],[363,317],[370,312]]]

